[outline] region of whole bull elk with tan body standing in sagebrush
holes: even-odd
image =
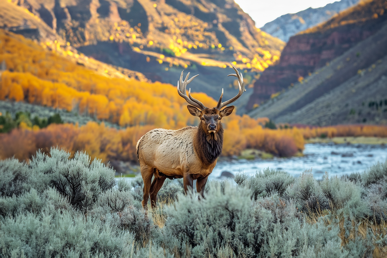
[[[193,190],[193,181],[197,179],[196,190],[203,196],[207,178],[216,165],[217,157],[222,152],[223,126],[221,119],[224,116],[229,116],[234,110],[234,106],[224,107],[236,101],[246,91],[242,74],[234,66],[233,69],[236,73],[227,76],[238,78],[238,94],[232,99],[222,102],[222,89],[217,106],[211,109],[194,99],[191,96],[191,89],[189,89],[187,96],[187,85],[199,74],[188,80],[190,75],[188,73],[183,81],[184,71],[182,71],[180,83],[177,82],[177,92],[189,104],[187,108],[190,114],[200,118],[200,123],[198,126],[187,126],[179,130],[153,129],[137,142],[137,157],[140,162],[141,176],[144,180],[144,200],[142,200],[144,209],[147,209],[149,196],[151,207],[156,206],[157,193],[166,178],[183,178],[186,194],[188,188]]]

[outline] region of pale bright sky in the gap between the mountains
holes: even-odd
[[[235,0],[243,11],[255,21],[260,28],[284,14],[294,14],[309,7],[318,8],[337,0]]]

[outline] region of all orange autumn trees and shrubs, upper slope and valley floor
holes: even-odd
[[[137,161],[135,145],[147,131],[179,129],[199,123],[189,114],[185,100],[176,94],[175,86],[98,74],[46,51],[31,40],[0,30],[2,62],[7,70],[1,74],[0,100],[76,111],[126,128],[118,130],[104,123],[89,122],[85,126],[63,124],[39,129],[21,123],[18,129],[0,134],[0,159],[15,155],[20,160],[27,160],[38,149],[47,151],[51,146],[59,146],[72,154],[84,150],[104,162]],[[205,106],[216,106],[217,102],[204,93],[193,93],[192,96]],[[252,119],[236,114],[222,121],[225,127],[223,155],[239,155],[241,150],[253,148],[288,157],[304,149],[304,138],[322,133],[332,137],[372,135],[375,130],[383,131],[366,126],[271,130],[262,126],[269,121],[267,118]]]

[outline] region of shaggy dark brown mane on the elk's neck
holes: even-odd
[[[219,130],[216,133],[206,133],[202,126],[196,133],[194,149],[200,160],[205,165],[210,165],[220,156],[223,148],[223,126],[219,123]]]

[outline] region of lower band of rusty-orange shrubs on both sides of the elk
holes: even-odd
[[[244,124],[245,120],[249,120],[247,116],[228,123],[223,155],[238,155],[247,147],[263,149],[279,156],[291,156],[303,149],[303,138],[297,128],[271,130],[262,128],[257,120],[255,126],[246,128],[244,126],[249,124]],[[89,122],[85,126],[52,124],[42,129],[22,125],[10,133],[0,134],[0,159],[15,155],[19,160],[27,160],[38,149],[48,152],[51,146],[59,146],[72,154],[77,150],[86,151],[92,158],[97,157],[104,162],[137,162],[137,141],[152,128],[154,126],[131,126],[117,130],[96,122]]]

